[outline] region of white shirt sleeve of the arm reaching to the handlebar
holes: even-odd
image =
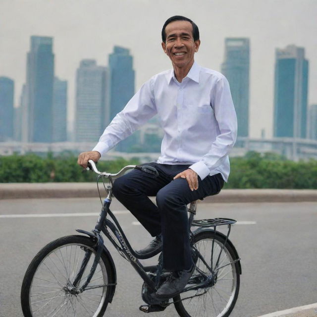
[[[112,119],[93,151],[98,151],[103,156],[157,114],[152,81],[153,79],[147,81]]]

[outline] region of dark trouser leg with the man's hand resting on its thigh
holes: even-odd
[[[159,190],[157,205],[161,213],[163,267],[167,270],[189,269],[192,265],[188,232],[187,204],[220,191],[220,174],[199,178],[197,190],[191,191],[187,180],[175,179]]]

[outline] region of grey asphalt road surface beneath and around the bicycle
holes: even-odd
[[[63,213],[99,212],[100,202],[83,199],[0,201],[0,317],[21,317],[20,287],[24,272],[45,244],[75,229],[91,230],[97,216]],[[114,201],[112,211],[124,211]],[[42,214],[58,213],[54,217]],[[5,215],[23,214],[8,217]],[[242,261],[240,294],[230,317],[256,317],[317,302],[317,203],[201,203],[197,218],[231,217],[230,239]],[[129,213],[117,215],[137,249],[150,240]],[[108,317],[144,316],[139,311],[142,280],[113,247],[118,285]],[[178,316],[172,306],[150,316]]]

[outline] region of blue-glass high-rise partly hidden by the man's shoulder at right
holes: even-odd
[[[238,136],[249,136],[249,71],[250,43],[247,38],[225,39],[224,62],[221,72],[230,84],[237,113]]]

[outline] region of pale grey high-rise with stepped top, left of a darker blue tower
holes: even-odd
[[[97,142],[106,127],[106,73],[94,59],[84,59],[76,73],[75,140]]]

